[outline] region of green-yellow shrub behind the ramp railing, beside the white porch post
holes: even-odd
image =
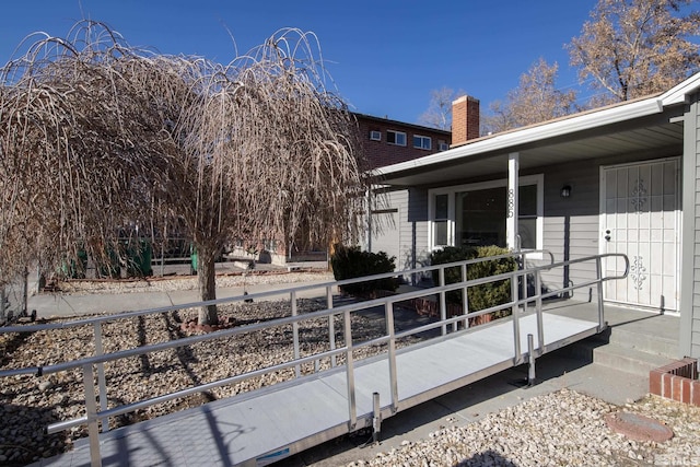
[[[431,257],[431,265],[444,265],[447,262],[464,261],[475,258],[487,258],[491,256],[505,255],[509,250],[500,246],[478,246],[478,247],[445,247],[434,252]],[[490,261],[480,261],[467,265],[467,279],[480,279],[489,276],[497,276],[517,269],[514,258],[501,258]],[[433,271],[433,282],[440,283],[439,271]],[[445,284],[456,283],[462,280],[462,267],[445,269]],[[472,285],[468,289],[469,311],[478,312],[491,306],[501,305],[511,300],[511,280],[500,280],[480,285]],[[456,290],[446,294],[448,303],[462,304],[462,291]],[[510,311],[494,313],[493,317],[508,316]]]

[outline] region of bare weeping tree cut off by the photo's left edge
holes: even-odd
[[[139,85],[152,68],[98,23],[73,40],[45,37],[2,68],[0,272],[57,267],[78,249],[102,257],[129,223],[149,225],[172,144]]]

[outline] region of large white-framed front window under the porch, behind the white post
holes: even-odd
[[[431,247],[505,247],[506,184],[493,180],[432,190]],[[542,175],[521,177],[518,183],[517,233],[523,249],[542,247]]]

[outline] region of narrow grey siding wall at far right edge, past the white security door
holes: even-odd
[[[685,116],[678,357],[700,357],[700,95]]]

